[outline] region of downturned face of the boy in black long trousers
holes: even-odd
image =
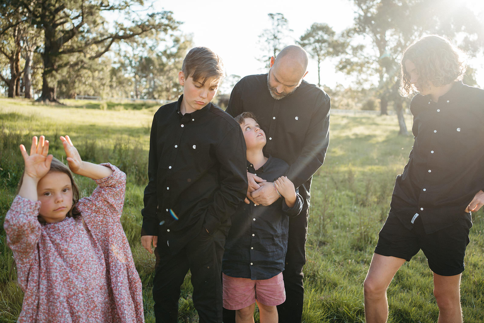
[[[194,80],[192,77],[186,77],[182,71],[178,73],[178,80],[183,86],[183,101],[181,102],[181,113],[192,113],[204,108],[212,101],[217,93],[220,78],[210,77]]]

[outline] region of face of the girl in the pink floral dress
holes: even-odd
[[[72,207],[72,183],[66,173],[51,171],[37,184],[40,216],[47,223],[61,222]]]

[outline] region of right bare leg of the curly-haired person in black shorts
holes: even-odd
[[[462,322],[460,274],[440,276],[434,273],[434,296],[439,306],[439,323]]]

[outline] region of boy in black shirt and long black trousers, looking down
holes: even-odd
[[[218,55],[191,49],[178,75],[183,94],[153,118],[141,242],[150,253],[155,247],[156,322],[177,322],[189,269],[199,321],[222,322],[225,238],[247,192],[241,128],[210,103],[223,74]]]

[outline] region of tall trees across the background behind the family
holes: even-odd
[[[451,38],[470,57],[481,57],[483,18],[466,1],[348,1],[354,20],[344,31],[317,21],[309,22],[304,34],[293,35],[283,14],[270,13],[270,28],[261,30],[258,44],[247,45],[264,53],[264,68],[284,46],[300,44],[317,63],[312,73],[331,95],[333,107],[378,109],[381,114],[393,109],[399,132],[406,135],[408,100],[398,94],[401,53],[418,37],[436,33]],[[177,73],[182,59],[193,46],[192,36],[180,31],[181,23],[172,12],[155,12],[143,0],[4,0],[0,86],[8,97],[36,93],[38,101],[58,102],[76,94],[173,100],[181,92]],[[348,75],[350,85],[330,89],[321,84],[320,66],[326,60]],[[473,86],[474,62],[464,80]],[[216,103],[227,103],[239,78],[227,77]]]

